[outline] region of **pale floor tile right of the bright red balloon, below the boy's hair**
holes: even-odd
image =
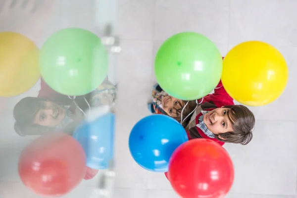
[[[297,122],[257,120],[247,146],[226,145],[235,165],[231,193],[295,195],[297,182]]]

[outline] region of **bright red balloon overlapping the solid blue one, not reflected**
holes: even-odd
[[[182,198],[222,198],[234,180],[228,152],[212,140],[190,140],[169,161],[169,181]]]

